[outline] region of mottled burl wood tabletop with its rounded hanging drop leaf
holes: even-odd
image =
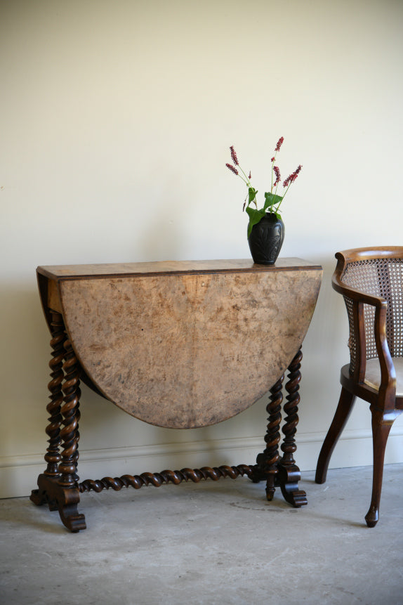
[[[38,272],[95,387],[145,422],[183,429],[230,418],[277,382],[302,344],[322,278],[298,259]]]

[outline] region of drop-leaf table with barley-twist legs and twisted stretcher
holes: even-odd
[[[79,494],[104,488],[246,475],[275,486],[295,507],[300,347],[322,267],[300,259],[41,266],[39,292],[51,330],[47,464],[31,500],[57,509],[70,531],[86,528]],[[288,367],[282,419],[282,382]],[[206,427],[270,391],[265,450],[256,464],[182,469],[79,482],[79,383],[159,427]]]

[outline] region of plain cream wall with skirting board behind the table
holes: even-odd
[[[261,191],[279,136],[282,256],[324,266],[303,347],[297,460],[313,469],[348,360],[334,253],[402,244],[403,3],[10,0],[0,4],[1,495],[44,468],[49,334],[35,268],[249,256],[235,145]],[[192,431],[83,388],[80,475],[253,462],[265,401]],[[333,466],[371,464],[370,415]],[[403,422],[388,462],[403,461]]]

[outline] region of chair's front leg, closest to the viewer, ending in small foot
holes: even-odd
[[[374,468],[372,476],[371,505],[369,511],[365,515],[365,521],[368,527],[375,527],[376,523],[378,523],[386,442],[388,441],[389,431],[393,421],[399,416],[401,411],[402,410],[393,410],[392,412],[383,412],[383,410],[371,409]]]

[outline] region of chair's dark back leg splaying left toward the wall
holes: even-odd
[[[324,483],[326,481],[326,474],[331,455],[338,438],[343,432],[345,423],[348,421],[348,417],[350,416],[354,403],[355,395],[350,393],[350,391],[347,391],[347,389],[345,389],[343,386],[341,389],[340,399],[338,400],[336,413],[323,442],[322,449],[320,450],[315,475],[316,483]]]

